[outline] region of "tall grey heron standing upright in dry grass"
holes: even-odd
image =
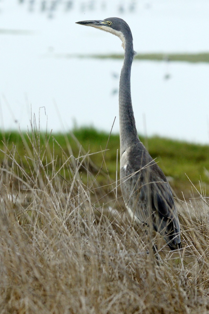
[[[119,83],[120,182],[124,203],[137,225],[160,233],[170,250],[181,248],[180,224],[166,176],[140,141],[131,102],[131,66],[136,52],[128,24],[120,18],[79,21],[118,36],[124,48]],[[147,228],[147,229],[150,229]]]

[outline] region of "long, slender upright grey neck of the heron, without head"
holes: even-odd
[[[131,64],[134,51],[133,43],[126,43],[124,62],[119,85],[119,124],[121,155],[133,143],[139,140],[131,103]]]

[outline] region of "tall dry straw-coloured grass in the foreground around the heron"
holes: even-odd
[[[37,130],[30,141],[29,173],[16,162],[15,146],[5,146],[1,165],[0,313],[209,313],[209,206],[202,193],[182,202],[181,252],[163,247],[157,260],[116,199],[115,184],[105,194],[94,181],[88,153],[80,149],[75,158],[68,145],[57,160],[47,139],[40,147]]]

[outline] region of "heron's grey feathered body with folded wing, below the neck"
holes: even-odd
[[[181,246],[177,209],[169,183],[139,141],[121,156],[121,190],[136,220],[153,224],[170,249]]]

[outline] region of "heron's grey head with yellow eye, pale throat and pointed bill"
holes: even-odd
[[[104,20],[94,21],[80,21],[76,23],[86,26],[92,26],[100,30],[105,30],[106,32],[118,36],[122,41],[122,46],[124,49],[127,42],[133,41],[130,27],[123,19],[120,18],[107,18]]]

